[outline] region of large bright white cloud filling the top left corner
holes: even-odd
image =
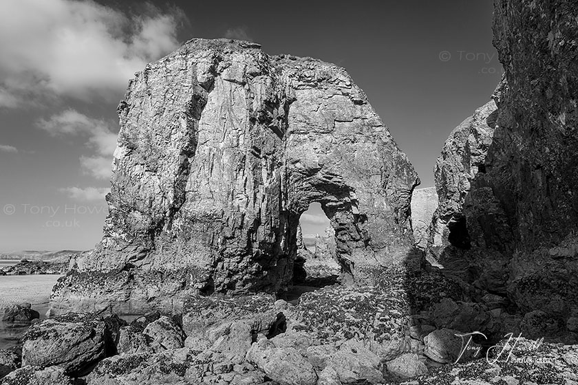
[[[134,72],[178,46],[184,16],[141,6],[127,15],[94,1],[3,0],[0,107],[38,98],[120,98]]]

